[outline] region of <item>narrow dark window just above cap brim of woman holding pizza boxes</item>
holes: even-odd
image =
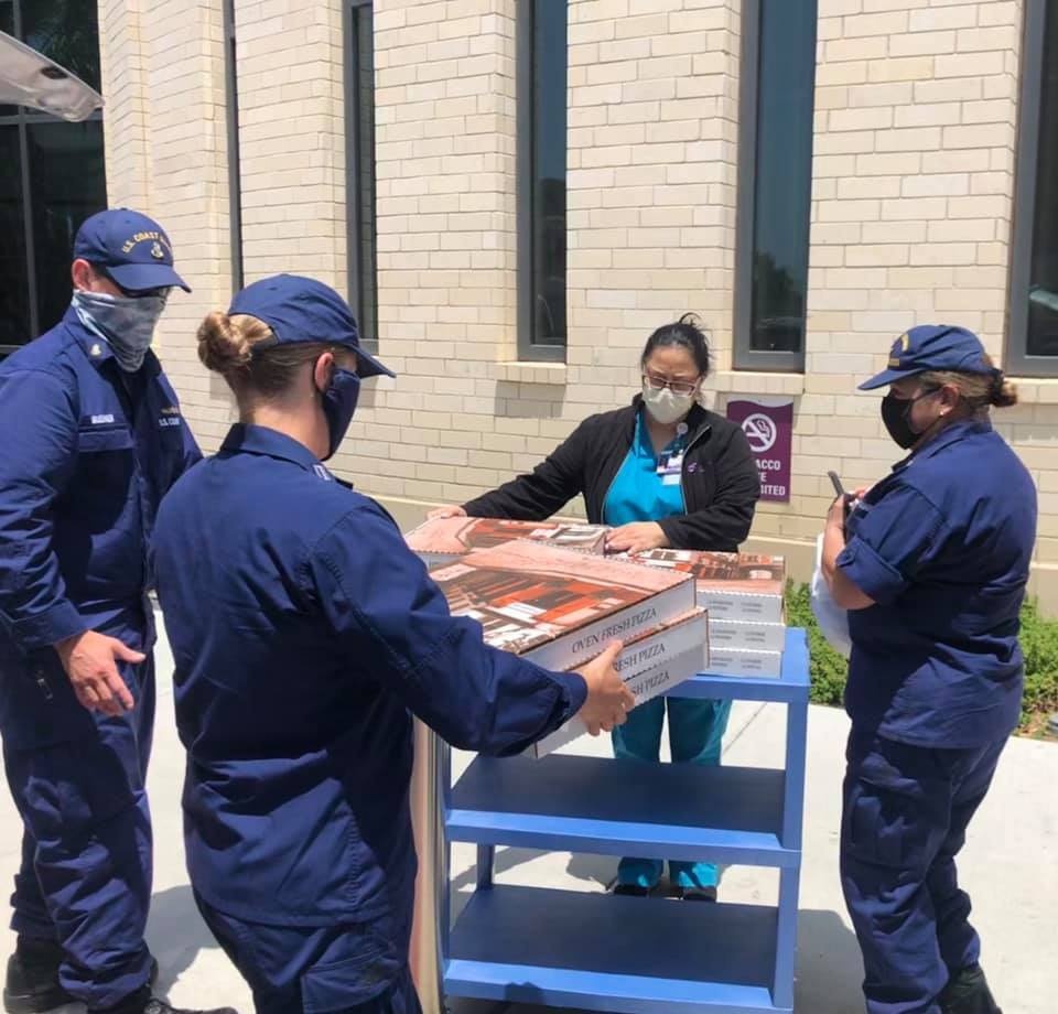
[[[349,303],[360,339],[378,350],[375,227],[375,29],[370,0],[346,8],[345,159]]]

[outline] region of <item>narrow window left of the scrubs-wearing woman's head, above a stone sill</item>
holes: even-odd
[[[518,355],[565,358],[565,0],[518,4]]]

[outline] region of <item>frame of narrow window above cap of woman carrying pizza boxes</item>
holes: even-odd
[[[375,313],[370,322],[370,327],[365,327],[364,320],[364,291],[363,280],[363,258],[361,258],[361,224],[364,216],[364,202],[361,199],[361,190],[359,186],[360,169],[363,158],[363,125],[360,122],[360,24],[359,11],[363,8],[369,8],[374,18],[373,0],[346,0],[343,4],[343,26],[342,35],[345,41],[345,237],[346,237],[346,283],[348,287],[349,305],[353,306],[356,314],[356,323],[360,330],[360,344],[365,352],[378,352],[378,176],[375,169],[375,159],[371,159],[371,174],[374,185],[371,187],[371,220],[375,224],[374,246],[375,246]],[[371,50],[375,47],[374,20],[371,31]],[[373,57],[373,73],[375,69]],[[371,86],[371,116],[375,118],[375,86]],[[371,125],[371,137],[375,136],[377,119]],[[373,153],[374,154],[374,153]]]

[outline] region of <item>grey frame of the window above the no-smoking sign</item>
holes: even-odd
[[[806,346],[808,345],[808,284],[805,289],[805,330],[798,352],[758,352],[751,348],[753,325],[753,262],[756,227],[757,136],[759,133],[760,98],[760,8],[764,0],[744,0],[742,9],[742,47],[738,63],[738,176],[737,206],[735,209],[735,293],[732,333],[732,367],[735,370],[767,373],[805,373]],[[818,22],[818,18],[817,18]],[[816,94],[816,55],[812,54],[812,95]],[[814,107],[814,101],[813,101]],[[809,164],[813,158],[814,127],[809,149]],[[811,170],[809,171],[809,199],[806,216],[805,242],[811,254]]]

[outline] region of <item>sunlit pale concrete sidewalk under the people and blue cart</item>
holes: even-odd
[[[158,651],[159,706],[150,790],[154,812],[154,902],[148,938],[161,966],[160,989],[177,1005],[230,1004],[249,1014],[249,991],[216,946],[195,910],[184,870],[180,792],[183,749],[172,716],[172,661]],[[799,1014],[855,1014],[863,1010],[862,969],[838,882],[838,823],[848,723],[840,711],[813,708],[809,721],[805,863],[801,878]],[[776,705],[738,703],[732,712],[724,758],[777,766],[782,757],[784,712]],[[606,755],[608,741],[581,740],[576,752]],[[468,758],[453,757],[457,776]],[[961,870],[975,902],[984,938],[984,964],[1004,1014],[1049,1014],[1054,992],[1054,936],[1058,926],[1058,745],[1015,740],[995,786],[971,827]],[[19,862],[20,823],[7,794],[0,796],[0,883],[10,885]],[[473,889],[474,849],[456,846],[456,889]],[[602,891],[613,862],[593,855],[499,849],[497,881]],[[770,903],[773,871],[731,867],[721,898]],[[678,903],[671,903],[678,904]],[[456,899],[455,908],[460,906]],[[6,920],[4,920],[6,921]],[[608,931],[601,929],[601,931]],[[0,931],[0,957],[13,935]],[[64,1014],[82,1014],[78,1006]],[[499,1014],[503,1005],[460,1002],[455,1014]],[[551,1008],[553,1011],[553,1008]],[[506,1014],[537,1014],[511,1007]]]

